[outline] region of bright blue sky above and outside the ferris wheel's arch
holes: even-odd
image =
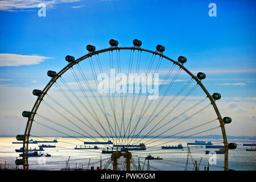
[[[38,16],[39,2],[46,3],[46,17]],[[216,17],[208,15],[211,2],[217,5]],[[102,49],[113,38],[120,46],[132,46],[137,38],[142,48],[164,45],[164,55],[174,60],[186,56],[192,73],[207,74],[210,93],[239,98],[227,105],[250,102],[246,115],[253,127],[249,134],[255,135],[255,7],[248,0],[0,1],[0,85],[24,90],[46,85],[46,72],[60,71],[66,55],[85,55],[87,44]],[[9,66],[6,59],[19,61]],[[11,96],[9,102],[14,102]]]

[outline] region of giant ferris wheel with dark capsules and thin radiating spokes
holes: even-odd
[[[24,135],[16,137],[23,140],[22,159],[16,164],[25,170],[40,165],[30,158],[30,137],[56,141],[42,137],[54,135],[67,137],[56,145],[63,153],[42,166],[67,162],[57,158],[65,154],[76,161],[88,159],[90,163],[95,159],[94,163],[100,162],[101,166],[105,161],[108,168],[114,165],[109,154],[130,151],[134,170],[142,166],[161,169],[163,165],[166,170],[174,169],[168,166],[183,168],[188,165],[187,149],[199,158],[205,156],[205,151],[197,144],[183,144],[184,150],[179,151],[164,147],[172,149],[203,134],[220,134],[222,141],[211,144],[223,145],[219,167],[228,170],[228,151],[236,144],[228,143],[225,125],[232,119],[221,117],[216,105],[221,94],[208,92],[203,85],[206,74],[193,75],[184,66],[185,56],[172,60],[163,54],[165,47],[161,45],[150,51],[143,49],[137,39],[132,47],[118,47],[113,39],[109,44],[101,50],[88,45],[88,53],[79,59],[66,56],[67,65],[61,71],[47,72],[51,80],[44,89],[32,91],[37,99],[31,111],[22,113],[28,120]],[[154,165],[145,160],[143,164],[142,158],[148,154],[163,155],[166,160],[154,160]],[[169,158],[172,155],[176,160]],[[123,165],[118,169],[125,169],[127,161],[119,160]],[[191,164],[195,166],[194,162]]]

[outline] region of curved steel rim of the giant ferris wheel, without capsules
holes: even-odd
[[[213,99],[213,97],[209,94],[208,90],[205,88],[205,86],[203,85],[203,83],[201,82],[201,80],[193,75],[193,73],[191,73],[187,68],[184,67],[183,63],[179,63],[179,61],[175,61],[173,59],[171,59],[170,57],[167,57],[165,55],[163,55],[161,52],[158,51],[150,51],[148,49],[143,49],[141,47],[138,46],[133,46],[133,47],[110,47],[110,48],[105,48],[105,49],[100,49],[98,51],[93,51],[93,52],[89,52],[84,56],[81,56],[79,59],[76,59],[75,61],[68,63],[68,65],[66,65],[63,69],[61,69],[61,71],[59,71],[57,73],[57,75],[53,78],[51,78],[51,80],[48,82],[48,84],[44,87],[44,89],[42,90],[42,94],[40,94],[40,96],[38,96],[38,98],[35,101],[34,106],[32,107],[31,110],[31,115],[28,118],[27,121],[27,125],[26,125],[26,130],[24,133],[24,140],[23,140],[23,169],[24,170],[28,170],[29,169],[29,164],[28,164],[28,140],[30,137],[30,131],[31,131],[31,127],[32,127],[32,123],[34,121],[34,117],[36,114],[36,111],[38,110],[38,107],[40,106],[40,103],[42,102],[44,96],[47,94],[48,90],[51,88],[51,86],[56,82],[57,79],[59,79],[59,77],[61,77],[65,72],[68,71],[68,69],[72,68],[74,65],[79,64],[81,61],[88,59],[89,57],[92,57],[94,55],[98,55],[100,53],[104,53],[104,52],[109,52],[109,51],[114,51],[114,50],[138,50],[138,51],[143,51],[143,52],[148,52],[148,53],[152,53],[153,55],[159,55],[160,57],[163,57],[164,59],[167,59],[169,61],[171,61],[172,63],[178,65],[181,69],[183,69],[183,71],[185,71],[186,73],[188,73],[189,76],[191,76],[193,78],[193,80],[195,80],[197,82],[197,84],[200,86],[200,88],[204,91],[204,93],[207,95],[208,99],[210,100],[210,103],[213,106],[213,109],[215,111],[215,113],[217,114],[217,119],[220,122],[220,127],[221,127],[221,132],[222,132],[222,137],[224,140],[224,148],[225,148],[225,158],[224,158],[224,170],[228,170],[228,140],[226,138],[226,131],[225,131],[225,124],[222,121],[222,117],[220,114],[220,111],[218,110],[218,107],[215,103],[215,100]]]

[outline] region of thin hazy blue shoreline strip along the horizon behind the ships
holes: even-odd
[[[14,138],[16,137],[16,135],[0,135],[0,138]],[[60,137],[60,138],[72,138],[72,137],[65,137],[65,136],[38,136],[38,137],[51,137],[51,138],[55,138],[55,137]],[[79,137],[79,136],[74,136],[75,138],[85,138],[85,137]],[[121,136],[123,137],[123,136]],[[184,135],[181,136],[172,136],[172,137],[167,137],[167,136],[148,136],[146,138],[183,138],[185,137]],[[34,137],[33,137],[34,138]],[[35,137],[36,138],[36,137]],[[94,138],[100,138],[100,137],[94,137]],[[109,137],[104,137],[104,138],[109,138]],[[115,137],[113,137],[115,138]],[[119,138],[119,136],[118,136]],[[131,138],[131,136],[130,136]],[[139,136],[138,138],[143,138],[143,136]],[[250,137],[250,136],[231,136],[228,135],[227,136],[228,139],[251,139],[251,140],[255,140],[256,136],[254,137]],[[204,135],[204,136],[193,136],[193,137],[186,137],[186,139],[222,139],[222,135]]]

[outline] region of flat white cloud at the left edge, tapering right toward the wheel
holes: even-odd
[[[18,67],[20,65],[39,64],[45,59],[52,59],[52,57],[44,57],[39,55],[16,55],[14,53],[0,53],[0,67]]]

